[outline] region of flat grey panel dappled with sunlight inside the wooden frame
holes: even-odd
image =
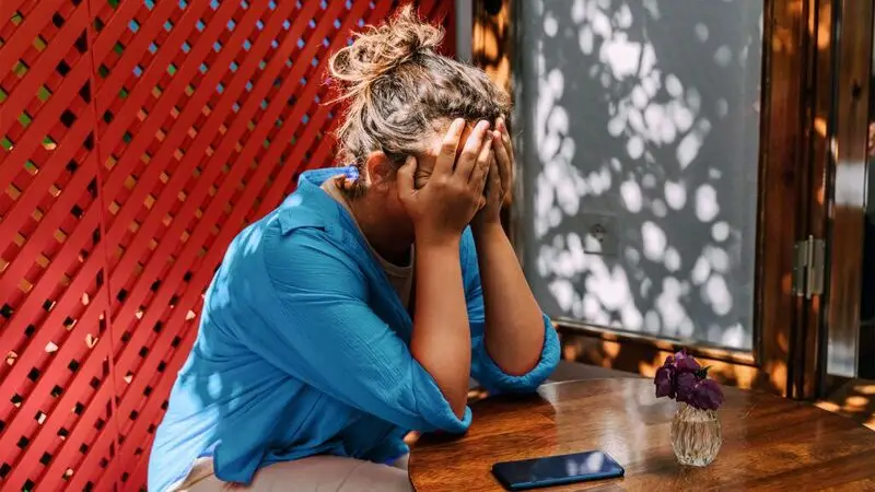
[[[518,2],[525,265],[549,314],[752,347],[762,2]]]

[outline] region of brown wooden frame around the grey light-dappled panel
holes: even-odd
[[[514,84],[521,57],[513,47],[513,13],[520,1],[474,2],[472,61],[517,101]],[[792,292],[793,251],[797,239],[824,232],[822,190],[826,133],[818,132],[828,115],[831,94],[822,77],[832,66],[832,3],[841,0],[765,0],[754,347],[750,352],[685,345],[712,365],[724,383],[780,395],[812,398],[822,359],[818,319],[819,296]],[[855,1],[855,0],[853,0]],[[500,3],[497,9],[489,4]],[[517,125],[521,121],[516,118]],[[525,142],[518,141],[517,145]],[[517,149],[517,155],[523,155]],[[522,196],[516,180],[515,196]],[[820,199],[820,206],[812,203]],[[522,258],[517,224],[525,213],[514,200],[508,225]],[[818,229],[819,227],[819,229]],[[558,321],[564,359],[651,375],[679,341],[617,332],[580,323]]]

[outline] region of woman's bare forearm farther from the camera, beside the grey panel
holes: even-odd
[[[501,224],[475,236],[486,309],[486,350],[510,375],[532,371],[544,348],[544,318]]]

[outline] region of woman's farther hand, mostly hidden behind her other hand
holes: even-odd
[[[475,232],[483,225],[501,223],[501,207],[511,191],[514,164],[511,136],[503,118],[498,119],[495,127],[497,130],[490,132],[493,144],[486,179],[486,204],[474,218],[471,225]]]

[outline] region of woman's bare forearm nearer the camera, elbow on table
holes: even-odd
[[[462,418],[468,395],[471,340],[458,243],[417,244],[417,289],[410,351]]]

